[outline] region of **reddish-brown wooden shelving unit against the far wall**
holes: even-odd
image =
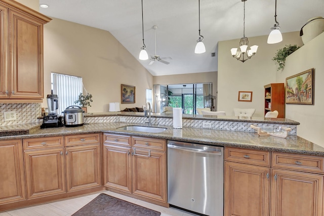
[[[271,83],[264,86],[264,115],[278,111],[277,118],[285,118],[285,84]]]

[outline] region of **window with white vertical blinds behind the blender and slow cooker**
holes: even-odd
[[[76,105],[74,101],[82,93],[82,77],[52,73],[51,82],[53,94],[57,94],[59,98],[58,114],[66,107]]]

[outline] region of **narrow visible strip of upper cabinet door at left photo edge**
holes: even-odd
[[[0,5],[0,98],[8,98],[8,9]]]

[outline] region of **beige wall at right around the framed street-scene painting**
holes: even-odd
[[[300,122],[297,135],[324,147],[324,33],[286,59],[285,69],[276,73],[277,82],[314,68],[314,105],[286,104],[286,118]]]

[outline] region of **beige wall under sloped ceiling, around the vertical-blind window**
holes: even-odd
[[[120,84],[136,87],[136,103],[120,104],[121,110],[141,107],[145,89],[153,86],[152,75],[108,31],[56,18],[44,25],[45,96],[51,72],[83,78],[93,95],[90,113],[108,112],[109,102],[120,102]]]

